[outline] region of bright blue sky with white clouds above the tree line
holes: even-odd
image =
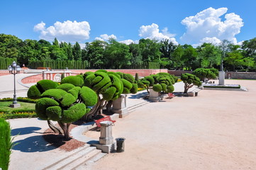
[[[256,37],[255,0],[1,0],[0,6],[0,33],[22,40],[150,38],[196,46]]]

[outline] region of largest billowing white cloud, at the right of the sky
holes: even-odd
[[[235,35],[240,33],[243,27],[243,19],[235,13],[227,13],[228,8],[207,8],[204,11],[196,13],[195,16],[189,16],[182,20],[186,26],[187,32],[182,35],[181,40],[184,43],[199,42],[220,42],[229,40],[237,43]],[[221,21],[221,16],[225,13],[225,21]]]

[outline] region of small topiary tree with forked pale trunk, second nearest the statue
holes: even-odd
[[[194,74],[184,73],[181,76],[182,81],[184,82],[184,94],[187,94],[187,91],[194,85],[201,86],[201,81],[199,77],[196,77]]]

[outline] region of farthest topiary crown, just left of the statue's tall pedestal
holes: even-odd
[[[194,70],[193,74],[195,74],[196,77],[199,77],[202,81],[204,79],[216,79],[216,77],[218,77],[218,69],[198,68]]]

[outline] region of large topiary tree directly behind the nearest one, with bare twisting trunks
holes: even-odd
[[[98,102],[91,109],[90,113],[85,115],[84,120],[89,120],[101,113],[106,106],[106,110],[110,111],[112,103],[121,94],[137,93],[138,86],[135,79],[130,74],[121,72],[107,72],[106,70],[98,70],[96,72],[84,73],[84,86],[88,86],[94,90],[98,96]]]

